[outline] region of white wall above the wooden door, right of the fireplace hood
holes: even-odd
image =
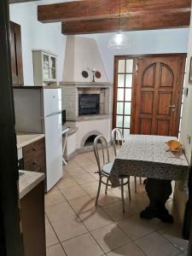
[[[114,55],[186,53],[188,49],[189,28],[125,32],[125,34],[131,41],[131,47],[127,49],[108,49],[108,40],[113,33],[84,36],[96,39],[109,82],[113,82]]]

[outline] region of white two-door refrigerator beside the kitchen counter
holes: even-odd
[[[49,191],[62,177],[61,89],[32,87],[14,89],[15,129],[44,133]]]

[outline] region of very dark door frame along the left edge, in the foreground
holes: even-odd
[[[0,1],[0,254],[22,256],[13,82],[9,48],[9,1]]]

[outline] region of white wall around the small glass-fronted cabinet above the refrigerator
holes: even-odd
[[[10,20],[20,24],[24,84],[34,85],[32,49],[47,49],[58,55],[58,81],[62,79],[65,40],[61,23],[38,22],[36,3],[10,4]]]

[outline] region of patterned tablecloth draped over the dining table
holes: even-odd
[[[119,185],[119,177],[137,176],[166,180],[186,180],[189,163],[182,154],[179,157],[167,152],[167,144],[177,137],[130,135],[120,148],[113,162],[110,181]]]

